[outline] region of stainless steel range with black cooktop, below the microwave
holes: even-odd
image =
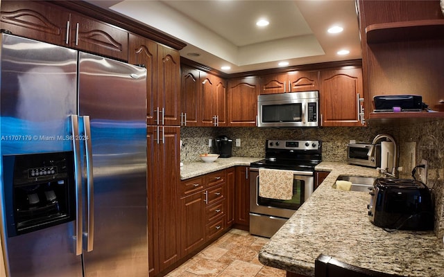
[[[266,141],[265,159],[250,163],[251,234],[271,238],[310,197],[314,189],[314,167],[322,161],[321,145],[321,141]],[[259,195],[259,172],[267,170],[278,175],[289,175],[289,171],[293,172],[291,199]]]

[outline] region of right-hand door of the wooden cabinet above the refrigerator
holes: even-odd
[[[128,33],[109,24],[71,13],[70,46],[128,61]]]

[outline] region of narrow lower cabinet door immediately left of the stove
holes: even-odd
[[[236,167],[234,223],[239,224],[238,228],[250,229],[250,180],[247,166]]]

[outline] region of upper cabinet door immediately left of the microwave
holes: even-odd
[[[228,122],[230,126],[256,126],[257,77],[228,81]]]

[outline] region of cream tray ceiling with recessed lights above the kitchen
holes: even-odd
[[[185,42],[182,57],[225,73],[361,58],[355,0],[87,2]],[[260,18],[270,24],[257,27]],[[343,32],[327,33],[333,25]],[[342,49],[350,53],[338,55]]]

